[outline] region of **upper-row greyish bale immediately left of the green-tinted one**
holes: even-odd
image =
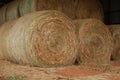
[[[7,5],[6,21],[17,19],[19,17],[18,1],[12,1]]]

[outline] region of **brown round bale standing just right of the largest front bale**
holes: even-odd
[[[109,64],[113,40],[109,29],[97,19],[74,22],[79,41],[79,62]]]

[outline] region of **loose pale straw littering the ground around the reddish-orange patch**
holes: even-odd
[[[109,78],[115,78],[119,77],[120,73],[117,73],[119,69],[114,68],[114,71],[116,72],[109,72],[104,71],[105,69],[101,69],[99,67],[89,67],[83,66],[72,66],[72,67],[62,67],[62,68],[38,68],[38,67],[30,67],[30,66],[21,66],[17,64],[10,63],[8,61],[0,61],[0,77],[8,77],[10,75],[14,76],[25,76],[25,80],[109,80]],[[65,74],[59,74],[58,71],[64,71],[64,70],[70,70],[75,72],[81,72],[81,70],[92,70],[92,72],[98,72],[99,74],[91,75],[89,76],[81,76],[78,75],[74,76],[75,74],[68,73],[68,75]],[[66,73],[66,72],[65,72]],[[87,72],[88,73],[88,72]],[[70,76],[69,74],[72,74]]]

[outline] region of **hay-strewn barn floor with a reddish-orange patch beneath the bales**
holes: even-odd
[[[24,76],[24,80],[120,80],[120,63],[109,66],[76,65],[60,68],[38,68],[0,61],[0,80],[9,76]]]

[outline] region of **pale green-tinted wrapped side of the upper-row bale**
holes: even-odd
[[[36,11],[36,1],[37,0],[19,0],[20,16]]]

